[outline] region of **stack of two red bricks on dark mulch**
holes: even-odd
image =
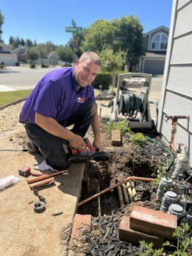
[[[159,248],[163,239],[173,238],[177,228],[177,216],[134,206],[130,216],[123,216],[119,227],[119,239],[130,243],[145,240]]]

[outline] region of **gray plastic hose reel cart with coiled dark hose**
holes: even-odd
[[[151,81],[151,74],[119,74],[116,97],[111,104],[111,121],[116,122],[118,115],[122,115],[127,117],[132,129],[152,129],[154,120],[148,102]]]

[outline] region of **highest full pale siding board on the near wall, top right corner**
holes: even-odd
[[[186,8],[177,13],[177,23],[175,26],[175,35],[180,36],[192,31],[192,2]]]

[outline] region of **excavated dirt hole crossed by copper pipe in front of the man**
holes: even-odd
[[[156,177],[156,166],[150,164],[148,159],[134,159],[130,157],[129,152],[110,152],[111,160],[100,163],[89,163],[87,174],[90,179],[89,191],[87,191],[88,183],[83,182],[81,191],[81,200],[94,195],[95,193],[108,188],[115,184],[115,179],[122,180],[129,176],[137,177]],[[124,156],[124,157],[122,157]],[[135,182],[136,191],[138,193],[138,200],[150,201],[152,200],[151,184],[149,182]],[[108,193],[100,196],[100,212],[98,198],[82,205],[77,209],[79,214],[92,214],[98,216],[101,214],[111,214],[113,211],[118,211],[120,208],[118,200],[117,189],[113,189]]]

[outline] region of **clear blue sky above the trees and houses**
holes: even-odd
[[[144,32],[158,26],[170,27],[172,0],[1,0],[4,15],[2,38],[9,42],[10,36],[35,40],[37,43],[51,41],[67,44],[72,36],[65,26],[88,28],[97,19],[112,20],[134,15],[140,19]]]

